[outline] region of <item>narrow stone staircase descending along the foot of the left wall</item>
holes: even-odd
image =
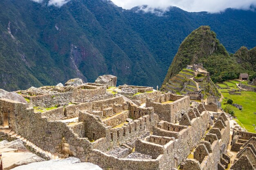
[[[16,132],[14,132],[11,129],[2,129],[2,130],[0,130],[0,132],[4,133],[4,136],[7,137],[7,139],[9,139],[9,140],[10,139],[11,140],[20,139],[23,142],[24,146],[26,146],[26,148],[28,148],[28,150],[30,150],[31,152],[35,153],[36,155],[38,155],[46,160],[60,159],[57,154],[52,154],[48,151],[45,151],[45,150],[39,148],[38,146],[33,144],[31,141],[16,134]]]

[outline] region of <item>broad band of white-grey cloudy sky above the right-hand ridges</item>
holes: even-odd
[[[220,12],[226,8],[249,9],[256,7],[256,0],[112,0],[117,6],[131,9],[147,4],[148,7],[166,10],[169,6],[179,7],[189,12]]]

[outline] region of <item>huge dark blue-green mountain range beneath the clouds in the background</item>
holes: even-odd
[[[112,74],[118,84],[160,85],[184,38],[210,25],[227,51],[256,46],[256,12],[161,16],[106,0],[72,0],[61,8],[31,0],[0,2],[0,88],[56,85]]]

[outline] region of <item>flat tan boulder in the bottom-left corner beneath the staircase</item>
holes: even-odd
[[[17,166],[41,162],[45,159],[30,152],[4,152],[2,153],[3,170],[10,170]]]

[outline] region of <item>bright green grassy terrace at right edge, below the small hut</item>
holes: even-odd
[[[236,81],[224,82],[229,87],[234,87],[237,83]],[[237,88],[238,89],[238,88]],[[254,130],[253,124],[256,124],[256,93],[252,91],[242,91],[241,95],[229,95],[228,89],[219,89],[222,95],[225,97],[222,101],[222,108],[224,109],[227,105],[224,105],[224,102],[227,102],[228,99],[232,99],[233,103],[240,104],[243,106],[242,110],[231,106],[231,108],[235,111],[235,116],[237,117],[236,121],[240,126],[244,126],[248,132],[256,132]]]

